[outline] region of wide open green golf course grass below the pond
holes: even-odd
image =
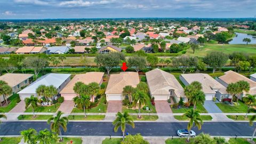
[[[205,44],[203,47],[199,47],[193,53],[191,49],[187,50],[188,55],[191,56],[198,56],[198,57],[204,57],[207,53],[213,52],[213,51],[220,51],[226,54],[230,54],[233,52],[243,52],[248,55],[255,55],[256,54],[256,44]]]

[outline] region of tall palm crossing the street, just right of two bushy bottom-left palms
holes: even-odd
[[[67,117],[61,117],[61,115],[64,114],[61,111],[58,111],[57,115],[55,117],[50,117],[47,120],[47,123],[51,123],[51,130],[57,134],[60,135],[60,141],[62,141],[62,136],[61,136],[61,130],[60,128],[62,127],[63,131],[67,131],[67,124],[68,124],[68,118]]]

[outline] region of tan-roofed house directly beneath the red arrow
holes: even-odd
[[[140,83],[139,74],[135,72],[123,72],[120,74],[111,74],[106,89],[107,101],[123,100],[123,88],[127,85],[137,87]]]

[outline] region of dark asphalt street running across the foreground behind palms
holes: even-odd
[[[255,126],[255,125],[254,125]],[[205,122],[200,131],[193,128],[196,133],[209,133],[213,136],[251,136],[254,126],[248,122]],[[69,122],[67,132],[63,135],[81,135],[81,136],[121,136],[121,130],[114,132],[113,125],[110,122]],[[135,129],[126,126],[126,132],[131,134],[141,133],[148,137],[167,137],[177,136],[177,130],[186,129],[186,122],[178,123],[156,123],[139,122],[135,123]],[[46,122],[3,122],[0,125],[0,135],[20,135],[20,131],[34,128],[37,131],[45,128],[50,129]]]

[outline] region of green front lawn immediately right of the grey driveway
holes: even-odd
[[[216,103],[216,105],[220,108],[223,113],[246,113],[247,106],[242,102],[238,101],[239,105],[237,106],[230,106],[226,105],[225,103]]]

